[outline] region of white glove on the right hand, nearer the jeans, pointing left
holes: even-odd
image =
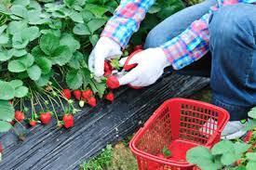
[[[125,59],[120,60],[124,64]],[[163,74],[164,69],[170,65],[168,58],[160,47],[141,51],[129,60],[128,65],[138,63],[137,67],[122,77],[120,85],[147,86],[152,85]]]

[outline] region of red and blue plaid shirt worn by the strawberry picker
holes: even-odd
[[[183,33],[170,39],[162,47],[173,69],[179,70],[202,58],[209,51],[209,17],[213,10],[237,3],[256,3],[256,0],[217,0],[200,20],[195,20]],[[101,36],[107,36],[120,46],[128,45],[132,33],[137,32],[141,20],[155,0],[122,0],[115,16],[108,21]]]

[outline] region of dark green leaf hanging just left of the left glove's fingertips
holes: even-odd
[[[78,89],[83,85],[83,75],[78,70],[72,70],[66,75],[66,84],[71,89]]]

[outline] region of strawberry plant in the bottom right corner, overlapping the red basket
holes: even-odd
[[[222,140],[211,150],[195,147],[188,150],[187,161],[195,163],[202,170],[254,170],[256,167],[256,108],[249,111],[249,123],[244,130],[249,131],[244,141]]]

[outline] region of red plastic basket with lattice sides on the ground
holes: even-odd
[[[229,114],[209,103],[185,98],[164,102],[129,143],[139,170],[195,170],[186,162],[186,151],[196,146],[211,148],[220,141]],[[171,152],[161,158],[163,148]]]

